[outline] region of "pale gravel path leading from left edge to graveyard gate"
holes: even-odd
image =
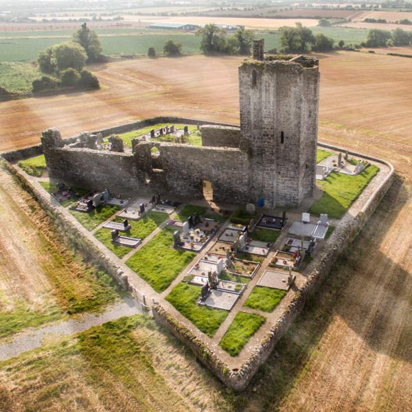
[[[95,325],[101,325],[124,316],[142,313],[141,305],[135,299],[124,298],[119,303],[109,306],[100,314],[85,313],[80,319],[70,319],[54,323],[35,330],[27,330],[16,334],[12,341],[0,343],[0,361],[18,356],[23,352],[41,347],[43,340],[49,335],[67,336],[82,332]]]

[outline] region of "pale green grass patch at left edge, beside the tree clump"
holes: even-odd
[[[2,48],[7,46],[1,45]],[[12,93],[30,93],[32,81],[40,76],[31,62],[0,62],[0,86]]]

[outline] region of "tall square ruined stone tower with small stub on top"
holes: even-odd
[[[254,47],[260,55],[262,41]],[[251,200],[296,207],[312,195],[319,108],[317,58],[247,60],[239,67],[240,129]]]

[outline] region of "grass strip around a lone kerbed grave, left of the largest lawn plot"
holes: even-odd
[[[168,219],[168,215],[161,213],[160,211],[149,211],[143,218],[135,221],[129,220],[129,224],[132,226],[130,231],[122,232],[119,231],[119,235],[128,236],[129,238],[147,238],[152,231],[157,229],[165,220]],[[115,218],[113,222],[123,222],[122,218]],[[121,244],[115,244],[111,242],[111,230],[99,229],[95,233],[95,237],[100,240],[108,249],[110,249],[118,258],[123,258],[124,255],[127,255],[131,250],[130,247],[122,246]]]

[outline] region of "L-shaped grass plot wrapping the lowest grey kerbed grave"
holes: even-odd
[[[174,286],[166,300],[179,310],[185,318],[189,319],[196,328],[212,337],[229,312],[199,306],[197,302],[200,297],[201,286],[180,283]]]

